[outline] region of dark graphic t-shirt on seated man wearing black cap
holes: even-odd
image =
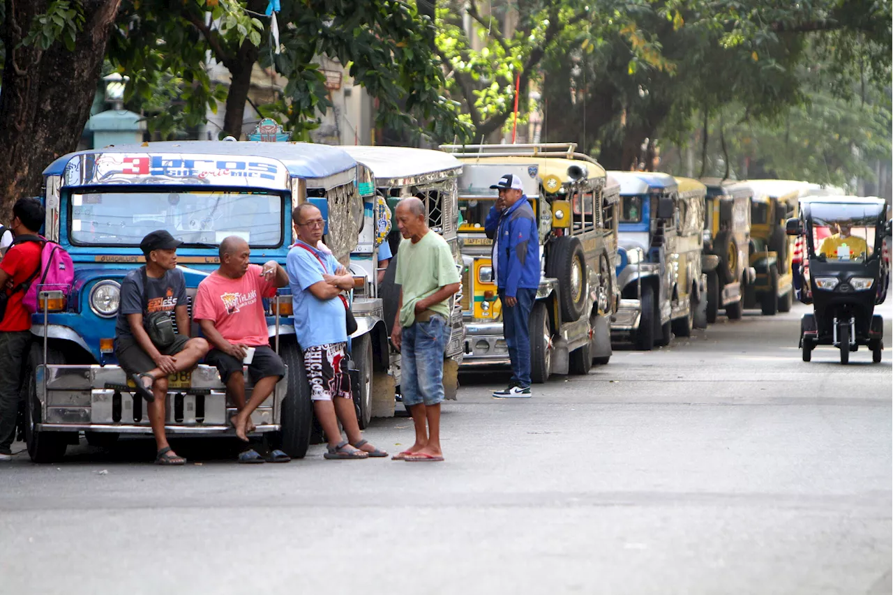
[[[186,277],[179,269],[171,269],[164,273],[160,279],[146,277],[148,287],[143,288],[143,273],[141,269],[135,269],[127,273],[121,282],[121,307],[118,310],[118,323],[115,331],[118,337],[132,337],[130,324],[127,322],[128,314],[170,311],[175,307],[186,306]],[[146,301],[148,307],[146,307]]]

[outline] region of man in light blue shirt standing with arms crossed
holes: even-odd
[[[354,277],[329,252],[317,247],[326,221],[310,203],[292,213],[297,241],[288,252],[286,269],[294,306],[295,334],[304,349],[313,411],[326,432],[331,459],[387,457],[363,440],[356,421],[347,372],[346,300],[341,292],[354,288]],[[341,440],[338,422],[347,440]]]

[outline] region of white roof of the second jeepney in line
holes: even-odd
[[[375,176],[378,187],[401,187],[445,180],[462,172],[462,163],[443,151],[413,147],[343,146]]]

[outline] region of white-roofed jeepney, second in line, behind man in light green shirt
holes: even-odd
[[[372,331],[369,344],[361,349],[372,349],[375,365],[371,373],[373,391],[368,403],[363,403],[363,422],[370,417],[391,417],[396,405],[395,389],[400,384],[400,352],[390,345],[391,327],[396,317],[400,288],[394,283],[396,275],[396,249],[384,275],[379,281],[382,244],[398,236],[396,223],[392,223],[396,203],[404,197],[418,197],[425,205],[430,230],[447,240],[453,253],[456,268],[462,268],[459,249],[457,179],[462,163],[452,155],[441,151],[409,147],[342,147],[360,164],[361,172],[367,170],[369,178],[361,173],[360,192],[363,195],[365,222],[360,231],[356,250],[351,255],[351,269],[355,275],[354,312],[357,322]],[[378,298],[381,310],[359,314],[365,302]],[[458,370],[463,358],[462,294],[450,298],[452,312],[450,339],[447,342],[444,362],[444,391],[446,398],[455,399],[459,387]],[[361,318],[362,317],[362,318]],[[356,349],[356,347],[355,347]]]

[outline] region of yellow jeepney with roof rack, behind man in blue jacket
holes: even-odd
[[[459,236],[463,240],[463,366],[509,364],[502,305],[484,222],[506,173],[522,180],[538,218],[542,275],[530,313],[530,378],[588,373],[611,358],[610,319],[617,296],[617,195],[605,195],[605,170],[573,143],[445,145],[463,163]],[[613,201],[613,202],[612,202]]]

